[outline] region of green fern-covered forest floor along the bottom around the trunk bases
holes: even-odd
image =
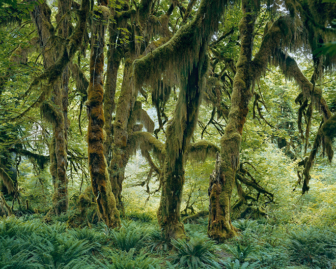
[[[102,222],[69,228],[67,215],[46,224],[39,214],[0,219],[0,268],[335,268],[330,227],[236,220],[239,235],[225,244],[207,237],[207,219],[185,224],[187,237],[169,248],[147,213],[109,229]]]

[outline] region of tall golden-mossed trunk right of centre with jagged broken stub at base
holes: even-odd
[[[220,158],[217,158],[217,172],[209,186],[209,225],[208,235],[218,241],[236,234],[231,224],[230,207],[236,171],[239,165],[239,151],[243,127],[251,99],[251,54],[255,15],[253,1],[242,0],[243,18],[239,24],[241,38],[237,72],[233,80],[231,109],[225,133],[221,137]]]

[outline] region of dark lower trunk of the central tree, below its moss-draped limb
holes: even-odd
[[[202,68],[203,66],[200,67]],[[200,74],[198,67],[194,67],[186,83],[181,83],[174,118],[166,131],[166,158],[160,177],[162,192],[157,211],[158,223],[166,240],[184,236],[180,215],[184,185],[184,152],[189,146],[197,124],[202,96],[200,82],[203,75],[204,73]]]

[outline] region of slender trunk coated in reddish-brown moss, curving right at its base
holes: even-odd
[[[88,160],[91,184],[96,196],[98,211],[108,227],[120,226],[116,199],[111,190],[107,163],[104,156],[104,112],[103,112],[103,67],[106,22],[109,17],[108,2],[101,2],[95,12],[92,25],[92,49],[90,56],[90,84],[88,87],[87,110]]]

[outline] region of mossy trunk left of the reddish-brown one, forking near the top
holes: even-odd
[[[67,12],[71,1],[60,0],[58,12],[59,35],[64,39],[69,35],[69,19]],[[42,2],[31,12],[40,39],[43,54],[44,69],[50,68],[60,56],[62,45],[53,47],[51,36],[53,26],[50,22],[51,11],[46,3]],[[61,18],[63,18],[61,20]],[[57,215],[68,209],[68,178],[67,178],[67,110],[68,110],[68,70],[63,71],[61,79],[52,85],[51,104],[44,106],[44,116],[52,123],[52,139],[49,145],[50,174],[54,186],[52,196],[53,212]]]

